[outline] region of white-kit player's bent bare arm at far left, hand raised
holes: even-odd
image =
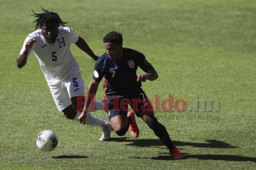
[[[32,48],[34,42],[36,42],[35,37],[29,39],[29,40],[26,42],[26,48],[25,48],[25,50],[24,50],[23,53],[20,54],[19,57],[17,57],[17,59],[16,59],[17,67],[18,67],[18,68],[23,68],[23,66],[26,65],[29,50]]]

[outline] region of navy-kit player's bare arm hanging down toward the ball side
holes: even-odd
[[[86,113],[87,113],[87,109],[90,105],[90,101],[92,101],[91,97],[95,97],[96,92],[98,90],[98,86],[99,86],[100,82],[96,82],[94,79],[92,79],[92,81],[90,82],[90,84],[88,85],[87,91],[86,91],[86,102],[83,108],[82,113],[78,116],[78,121],[84,125],[85,123],[85,118],[86,118]]]

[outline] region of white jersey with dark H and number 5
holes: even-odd
[[[79,65],[70,51],[70,44],[76,43],[79,38],[73,29],[59,27],[58,37],[52,44],[47,42],[41,29],[38,29],[26,37],[20,54],[25,50],[26,42],[32,37],[35,37],[36,42],[27,56],[34,51],[48,85],[61,82],[73,71],[79,71]]]

